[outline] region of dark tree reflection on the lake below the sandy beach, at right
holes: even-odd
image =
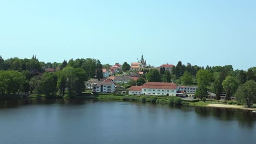
[[[237,121],[239,127],[253,129],[256,122],[256,113],[247,110],[224,109],[218,107],[195,107],[197,115],[213,117],[222,121]]]

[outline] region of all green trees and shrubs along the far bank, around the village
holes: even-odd
[[[31,59],[14,57],[5,60],[0,56],[0,99],[16,97],[21,93],[30,93],[31,97],[45,98],[82,97],[85,91],[84,82],[91,78],[102,79],[102,68],[109,68],[109,66],[109,64],[102,65],[98,59],[93,58],[44,63],[39,62],[36,56]],[[124,74],[130,72],[129,67],[129,64],[123,64],[123,69],[126,70]],[[53,71],[45,71],[47,68]],[[144,73],[137,81],[121,85],[129,88],[132,85],[143,85],[146,81],[175,82],[178,85],[196,85],[195,95],[203,101],[208,92],[213,92],[216,93],[217,101],[220,100],[221,93],[226,93],[225,101],[228,103],[231,103],[230,97],[233,95],[237,99],[236,103],[241,105],[253,107],[256,102],[256,67],[243,71],[234,70],[232,65],[204,68],[178,62],[171,73],[163,68],[159,71],[150,65]],[[123,71],[120,71],[120,75],[122,74]],[[167,100],[158,98],[142,97],[141,101],[167,103]],[[127,99],[133,100],[130,97]],[[173,101],[177,102],[177,100]]]

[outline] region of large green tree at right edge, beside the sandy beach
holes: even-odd
[[[248,107],[251,107],[256,102],[256,82],[253,80],[247,81],[245,84],[238,87],[235,93],[238,103],[246,103]]]

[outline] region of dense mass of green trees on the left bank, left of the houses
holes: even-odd
[[[44,72],[45,68],[59,68],[55,72]],[[56,94],[74,95],[85,91],[84,82],[90,78],[102,79],[102,64],[97,59],[70,59],[62,63],[39,62],[31,59],[0,56],[0,91],[4,94],[34,93],[47,97]]]

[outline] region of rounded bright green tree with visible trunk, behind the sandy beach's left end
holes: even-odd
[[[231,95],[234,94],[238,88],[238,82],[236,81],[235,77],[227,76],[222,82],[222,86],[226,92],[226,100],[230,100]]]

